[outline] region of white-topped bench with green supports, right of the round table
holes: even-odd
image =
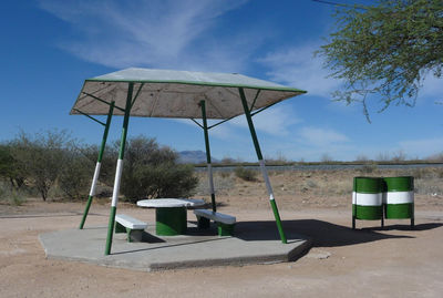
[[[209,228],[212,219],[217,223],[218,236],[233,236],[236,223],[234,216],[207,209],[195,209],[194,214],[197,216],[198,228]]]

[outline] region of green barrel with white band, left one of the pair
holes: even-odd
[[[383,219],[382,182],[379,177],[353,178],[352,218]]]

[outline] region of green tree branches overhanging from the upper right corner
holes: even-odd
[[[363,103],[381,95],[382,106],[414,105],[427,74],[442,75],[443,1],[380,0],[337,6],[338,30],[319,53],[331,76],[343,80],[336,100]]]

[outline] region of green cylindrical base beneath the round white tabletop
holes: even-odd
[[[186,234],[187,213],[184,207],[164,207],[155,209],[155,233],[159,236]]]

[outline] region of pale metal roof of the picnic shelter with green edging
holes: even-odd
[[[244,113],[238,92],[244,89],[250,111],[306,93],[237,73],[207,73],[130,68],[85,80],[70,114],[124,115],[128,83],[134,83],[131,116],[200,119],[199,102],[206,102],[207,119],[226,120]]]

